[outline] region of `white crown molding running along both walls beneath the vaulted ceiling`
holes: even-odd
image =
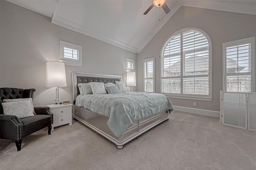
[[[177,4],[171,9],[171,12],[166,14],[164,19],[160,21],[160,23],[157,25],[157,27],[152,31],[152,33],[145,39],[145,41],[140,45],[140,47],[137,49],[135,47],[132,47],[128,44],[122,43],[116,39],[112,39],[106,35],[103,35],[101,33],[98,33],[96,31],[93,31],[91,29],[88,29],[87,27],[84,27],[82,25],[76,24],[74,22],[68,21],[64,18],[61,18],[57,16],[54,12],[51,18],[51,22],[60,25],[62,27],[71,29],[73,31],[82,33],[84,35],[88,35],[90,37],[93,37],[95,39],[99,39],[101,41],[104,41],[106,43],[115,45],[117,47],[126,49],[128,51],[132,51],[134,53],[140,53],[144,47],[151,41],[151,39],[158,33],[158,31],[166,24],[168,20],[175,14],[175,12],[181,7],[181,6],[188,6],[188,7],[195,7],[195,8],[205,8],[210,10],[220,10],[220,11],[227,11],[227,12],[236,12],[236,13],[242,13],[242,14],[251,14],[256,15],[256,5],[249,5],[249,4],[236,4],[236,3],[227,3],[227,2],[218,2],[218,1],[202,1],[202,0],[179,0]]]

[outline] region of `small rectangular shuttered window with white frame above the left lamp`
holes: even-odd
[[[82,46],[60,41],[60,61],[74,66],[82,66]]]

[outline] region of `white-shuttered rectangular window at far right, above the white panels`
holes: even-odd
[[[255,37],[223,43],[223,90],[255,92]]]

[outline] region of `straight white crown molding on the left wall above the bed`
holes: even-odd
[[[137,53],[138,52],[138,49],[136,49],[135,47],[132,47],[130,45],[127,45],[125,43],[122,43],[120,41],[117,41],[116,39],[112,39],[106,35],[103,35],[101,33],[98,33],[96,31],[93,31],[91,29],[88,29],[87,27],[84,27],[82,25],[79,25],[77,23],[74,23],[74,22],[71,22],[71,21],[68,21],[64,18],[61,18],[59,16],[56,16],[55,14],[52,15],[52,18],[51,18],[51,22],[56,24],[56,25],[60,25],[62,27],[65,27],[65,28],[68,28],[68,29],[71,29],[73,31],[76,31],[76,32],[79,32],[79,33],[82,33],[84,35],[88,35],[90,37],[93,37],[95,39],[98,39],[98,40],[101,40],[101,41],[104,41],[106,43],[109,43],[109,44],[112,44],[112,45],[115,45],[117,47],[120,47],[120,48],[123,48],[123,49],[126,49],[126,50],[129,50],[129,51],[132,51],[134,53]]]

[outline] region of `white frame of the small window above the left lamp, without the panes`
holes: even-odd
[[[64,57],[64,48],[74,49],[78,51],[78,59],[70,59]],[[82,66],[82,46],[68,43],[60,40],[60,61],[73,66]]]

